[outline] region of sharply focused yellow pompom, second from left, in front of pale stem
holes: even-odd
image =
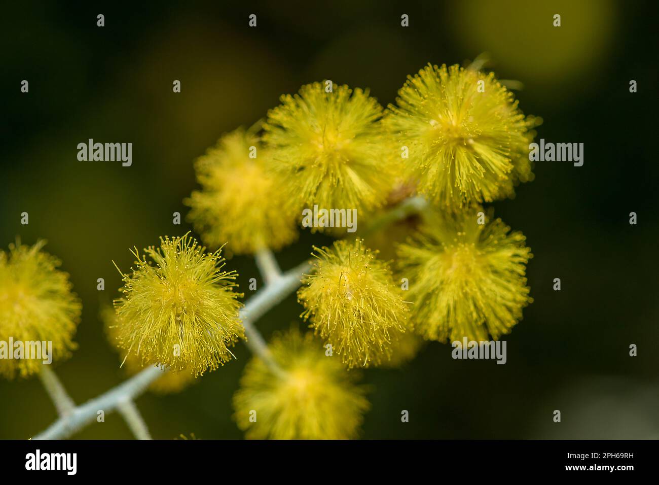
[[[143,365],[198,375],[231,360],[229,347],[244,338],[236,273],[222,271],[219,249],[205,249],[186,234],[161,238],[143,256],[132,251],[136,268],[122,273],[124,296],[115,300],[117,343]]]

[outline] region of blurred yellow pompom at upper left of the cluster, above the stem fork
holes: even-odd
[[[204,243],[219,247],[228,241],[236,254],[261,247],[277,251],[297,238],[298,214],[286,209],[281,176],[268,170],[271,155],[252,131],[224,135],[196,161],[202,190],[184,201]]]

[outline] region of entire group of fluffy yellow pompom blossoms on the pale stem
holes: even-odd
[[[132,251],[135,267],[120,271],[122,296],[103,314],[129,373],[161,366],[167,373],[152,389],[175,392],[229,362],[245,338],[243,295],[237,274],[223,271],[222,247],[260,256],[281,249],[297,238],[305,206],[357,210],[374,219],[366,232],[401,223],[384,238],[366,236],[386,246],[409,235],[396,252],[402,284],[361,238],[314,247],[297,293],[314,331],[294,328],[268,349],[247,318],[280,295],[255,298],[260,309],[244,318],[258,355],[233,397],[247,437],[358,436],[369,403],[353,368],[401,366],[424,340],[498,339],[521,320],[532,302],[530,249],[481,205],[532,179],[528,146],[538,119],[494,75],[458,66],[424,67],[396,101],[384,111],[368,90],[308,84],[282,96],[264,123],[223,135],[196,161],[201,188],[185,200],[189,219],[219,249],[207,252],[186,234]],[[52,340],[63,358],[74,348],[80,302],[42,245],[0,252],[0,343]],[[267,284],[295,288],[276,274]],[[40,365],[0,360],[0,374],[30,375]]]

